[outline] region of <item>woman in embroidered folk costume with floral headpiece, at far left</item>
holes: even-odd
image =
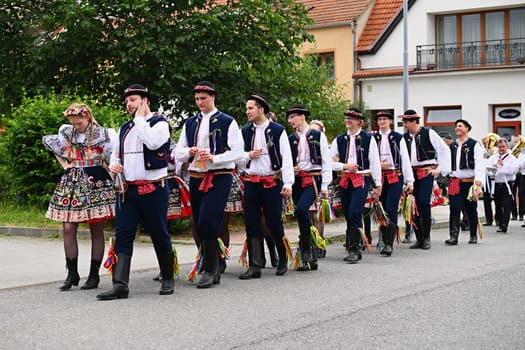
[[[54,153],[65,170],[51,197],[46,217],[64,223],[68,274],[60,290],[68,290],[79,283],[76,235],[79,223],[89,223],[91,268],[81,289],[93,289],[98,287],[100,280],[104,223],[114,217],[115,192],[106,165],[116,133],[100,126],[85,104],[72,104],[64,115],[70,124],[62,125],[58,135],[43,137],[44,146]]]

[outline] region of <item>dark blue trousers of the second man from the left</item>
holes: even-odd
[[[191,210],[201,242],[219,237],[232,179],[231,174],[216,174],[213,187],[204,192],[199,190],[202,179],[190,178]]]

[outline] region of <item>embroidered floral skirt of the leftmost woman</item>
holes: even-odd
[[[103,166],[67,169],[55,187],[46,217],[95,223],[115,217],[113,180]]]

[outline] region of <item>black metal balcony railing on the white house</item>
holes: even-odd
[[[525,38],[417,46],[417,69],[525,64]]]

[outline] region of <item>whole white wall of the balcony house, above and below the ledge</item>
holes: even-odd
[[[416,65],[416,45],[435,41],[434,15],[443,13],[500,9],[523,6],[523,2],[502,0],[418,0],[409,10],[409,66]],[[403,24],[399,23],[377,53],[359,56],[362,69],[400,68],[403,66]],[[493,131],[493,104],[521,104],[521,130],[525,134],[525,67],[454,72],[410,74],[409,108],[421,115],[425,106],[461,105],[463,117],[473,125],[471,135],[482,138]],[[403,112],[403,77],[361,79],[361,94],[370,109],[394,108]],[[396,126],[402,131],[402,127]]]

